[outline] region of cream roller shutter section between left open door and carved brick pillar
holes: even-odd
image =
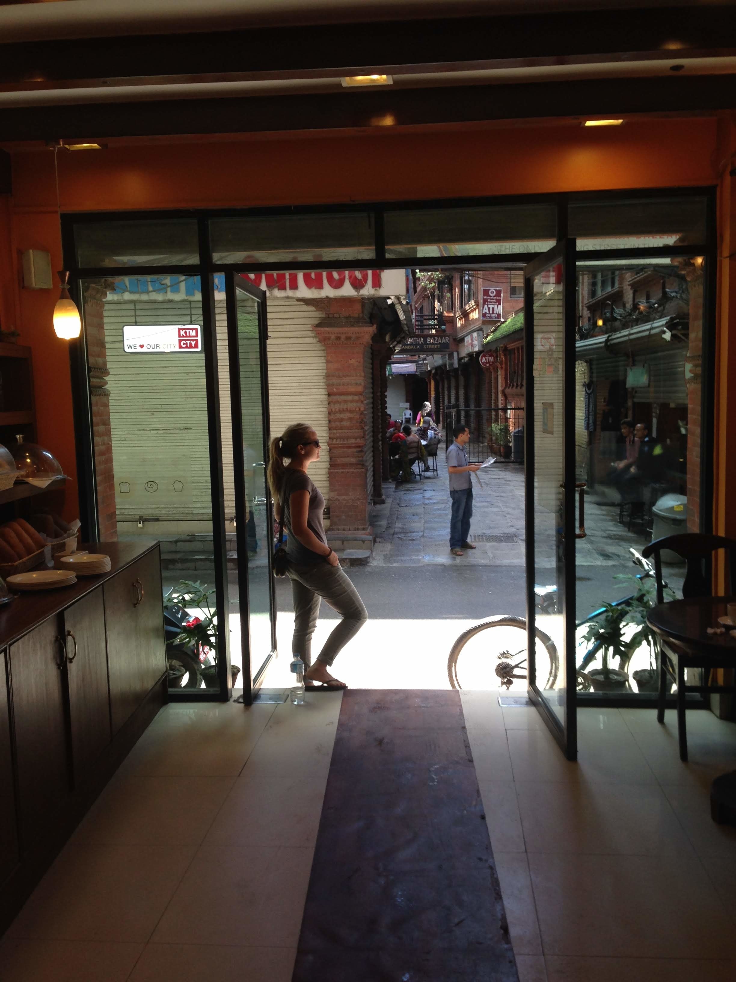
[[[271,437],[283,433],[291,423],[305,422],[314,427],[322,453],[309,467],[309,476],[329,506],[327,362],[325,348],[312,330],[322,314],[291,298],[269,298],[267,312]]]

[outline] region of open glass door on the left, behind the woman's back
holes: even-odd
[[[250,705],[276,653],[266,295],[237,273],[228,276],[226,294],[236,533],[235,556],[228,553],[231,658],[234,666],[240,659],[243,702]]]

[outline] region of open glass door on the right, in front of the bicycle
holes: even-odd
[[[529,697],[575,760],[574,240],[524,270],[524,321]]]

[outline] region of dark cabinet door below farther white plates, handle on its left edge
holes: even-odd
[[[110,742],[110,697],[102,587],[64,612],[75,786]]]

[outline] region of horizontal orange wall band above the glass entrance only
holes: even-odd
[[[112,108],[110,111],[114,111]],[[62,208],[228,207],[714,184],[716,121],[117,145],[60,154]],[[16,205],[55,204],[49,151],[14,154]]]

